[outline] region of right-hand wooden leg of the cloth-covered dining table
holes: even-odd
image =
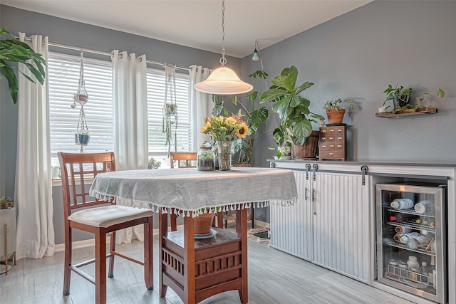
[[[247,271],[247,208],[236,211],[236,232],[241,239],[242,252],[242,289],[239,290],[239,298],[242,304],[249,302],[249,272]]]

